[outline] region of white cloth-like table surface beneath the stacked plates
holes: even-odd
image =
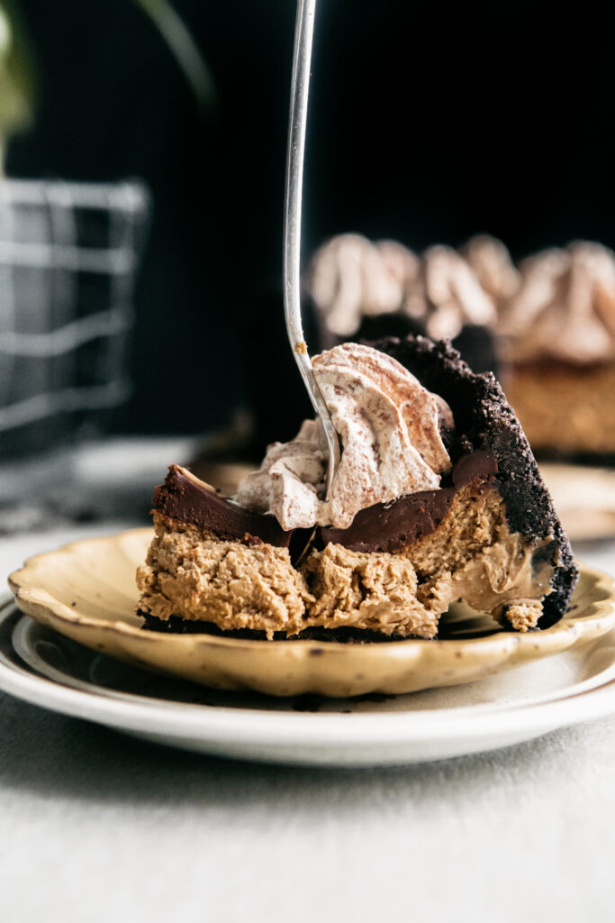
[[[132,524],[0,539],[0,569]],[[575,550],[615,571],[615,542]],[[330,771],[164,749],[0,693],[0,740],[6,923],[615,918],[615,717]]]

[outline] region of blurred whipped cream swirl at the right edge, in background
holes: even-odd
[[[503,314],[506,358],[583,365],[615,358],[615,254],[576,242],[524,260]]]

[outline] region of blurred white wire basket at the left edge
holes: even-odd
[[[0,457],[94,428],[130,394],[150,199],[140,182],[0,182]]]

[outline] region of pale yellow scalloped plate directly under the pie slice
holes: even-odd
[[[455,686],[592,641],[615,625],[613,581],[581,566],[570,613],[551,629],[520,634],[459,609],[449,640],[343,644],[244,641],[160,634],[135,614],[136,566],[150,529],[85,539],[31,557],[9,583],[18,607],[42,624],[125,662],[213,689],[349,697]]]

